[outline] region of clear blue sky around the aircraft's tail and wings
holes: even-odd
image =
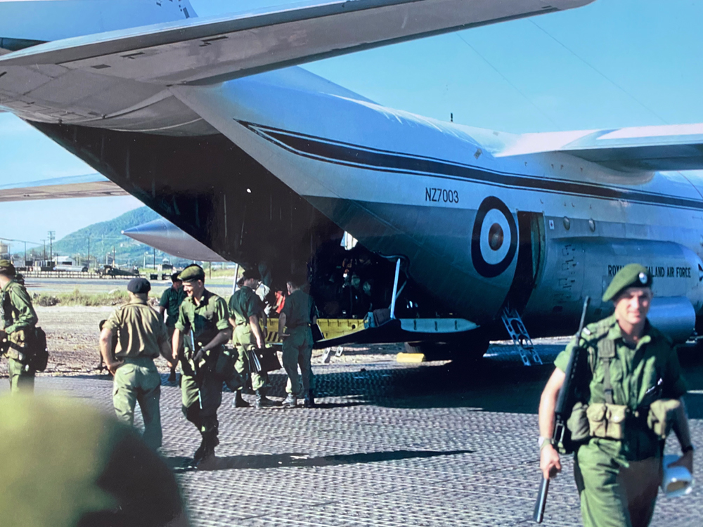
[[[191,1],[200,16],[285,3]],[[703,122],[701,20],[703,0],[597,0],[306,67],[383,105],[516,133]],[[92,171],[0,114],[0,184]],[[139,206],[131,197],[1,204],[0,237],[38,242],[51,229],[61,238]]]

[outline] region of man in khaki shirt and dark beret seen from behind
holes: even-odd
[[[117,419],[132,426],[134,406],[138,402],[144,418],[144,442],[156,450],[162,439],[161,375],[154,359],[161,354],[171,365],[171,349],[164,321],[147,304],[150,289],[146,278],[129,280],[129,303],[115,309],[105,321],[100,333],[100,351],[115,377],[112,404]],[[117,334],[114,355],[113,334]]]

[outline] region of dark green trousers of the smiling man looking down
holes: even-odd
[[[216,379],[209,370],[201,372],[196,378],[191,360],[183,360],[181,368],[183,415],[198,428],[200,434],[217,436],[217,409],[222,403],[222,380]]]

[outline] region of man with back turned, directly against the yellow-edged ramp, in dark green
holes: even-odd
[[[295,408],[297,398],[304,397],[304,405],[311,408],[315,404],[313,397],[313,373],[311,324],[317,322],[317,308],[312,297],[303,292],[300,284],[288,281],[288,297],[285,298],[283,311],[278,318],[280,337],[283,339],[283,368],[288,374],[288,392],[283,406]],[[300,375],[298,374],[300,366]]]

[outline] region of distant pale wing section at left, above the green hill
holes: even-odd
[[[0,202],[127,195],[129,195],[127,191],[101,174],[52,178],[0,186]]]

